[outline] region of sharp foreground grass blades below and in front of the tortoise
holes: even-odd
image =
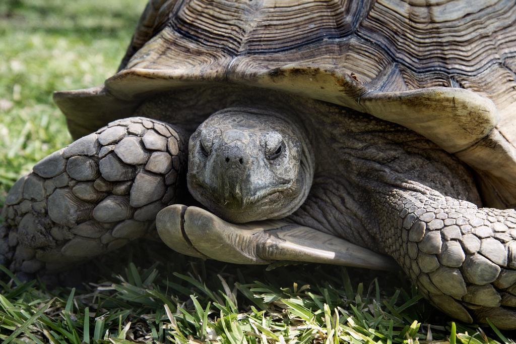
[[[147,263],[155,258],[152,251],[145,253]],[[490,339],[473,326],[433,323],[438,312],[421,302],[416,290],[405,286],[390,294],[382,291],[391,289],[388,284],[398,276],[387,277],[380,287],[373,274],[364,277],[358,269],[302,265],[267,271],[173,258],[147,268],[111,263],[109,269],[117,274],[80,290],[48,291],[40,281],[21,283],[13,276],[2,285],[0,338],[231,344],[447,339],[477,344],[505,339],[501,333],[499,341]],[[102,260],[92,265],[90,269],[106,269]],[[362,275],[367,283],[354,283],[353,275]]]

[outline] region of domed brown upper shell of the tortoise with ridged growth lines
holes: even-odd
[[[426,136],[476,170],[485,205],[514,207],[515,21],[510,0],[151,0],[119,72],[55,101],[77,138],[174,88],[292,92]]]

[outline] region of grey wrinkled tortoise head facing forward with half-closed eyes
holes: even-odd
[[[190,137],[188,189],[233,223],[283,218],[312,185],[313,157],[301,128],[283,116],[228,108]]]

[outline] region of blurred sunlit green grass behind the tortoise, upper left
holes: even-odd
[[[52,92],[114,74],[146,4],[0,1],[0,207],[21,174],[71,142]]]

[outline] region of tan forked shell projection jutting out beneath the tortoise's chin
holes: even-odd
[[[275,260],[397,270],[388,256],[310,227],[285,221],[235,225],[197,207],[169,206],[156,218],[159,236],[180,253],[239,264]]]

